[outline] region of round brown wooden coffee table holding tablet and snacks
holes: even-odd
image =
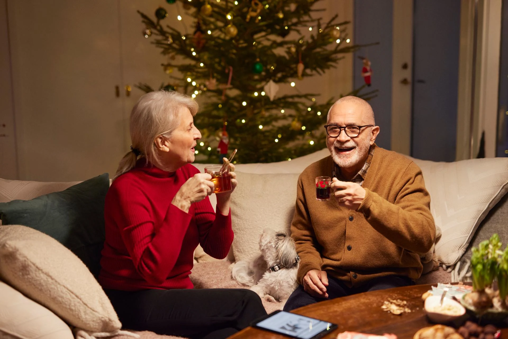
[[[436,284],[433,285],[436,286]],[[335,338],[340,332],[356,331],[372,334],[394,333],[399,339],[410,339],[420,328],[433,325],[425,315],[421,298],[424,292],[431,289],[431,286],[432,284],[416,285],[359,293],[303,306],[292,312],[338,325],[335,331],[323,338]],[[381,306],[389,298],[406,300],[412,312],[398,316],[384,312]],[[501,338],[508,338],[508,329],[501,330]],[[247,327],[230,338],[288,339],[289,337]]]

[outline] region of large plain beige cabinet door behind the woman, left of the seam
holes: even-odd
[[[7,4],[19,178],[112,176],[125,133],[122,96],[115,96],[119,2]]]

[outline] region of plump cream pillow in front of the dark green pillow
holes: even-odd
[[[77,328],[113,332],[121,323],[99,283],[70,250],[37,230],[0,226],[0,277]]]

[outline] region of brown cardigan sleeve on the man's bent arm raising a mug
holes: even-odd
[[[406,168],[395,203],[365,189],[358,208],[368,223],[387,239],[406,250],[427,253],[435,241],[436,227],[430,213],[430,195],[422,171],[413,162]]]

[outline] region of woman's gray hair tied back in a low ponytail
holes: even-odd
[[[140,154],[127,152],[120,161],[113,180],[134,168],[139,157],[145,157],[147,162],[161,166],[154,141],[159,136],[171,138],[171,133],[180,124],[182,107],[188,108],[193,116],[199,109],[194,99],[176,91],[158,90],[139,98],[131,112],[130,132],[132,147]]]

